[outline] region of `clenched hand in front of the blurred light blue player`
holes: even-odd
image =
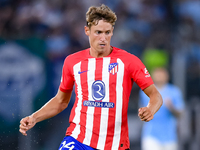
[[[140,120],[148,122],[153,119],[153,113],[148,107],[142,107],[138,110],[138,116]]]

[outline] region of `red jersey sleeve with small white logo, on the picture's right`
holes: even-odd
[[[138,57],[133,56],[130,68],[131,77],[142,90],[153,84],[153,80],[147,68]]]

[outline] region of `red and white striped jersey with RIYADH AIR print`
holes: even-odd
[[[89,49],[69,55],[64,62],[60,90],[76,100],[66,135],[100,150],[129,148],[127,110],[132,85],[153,84],[136,56],[113,47],[110,55],[93,58]]]

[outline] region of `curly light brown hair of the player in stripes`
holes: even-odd
[[[104,4],[100,7],[91,6],[86,13],[87,26],[90,28],[92,25],[97,25],[99,20],[104,20],[114,26],[117,16]]]

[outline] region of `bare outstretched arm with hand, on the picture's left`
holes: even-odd
[[[47,102],[42,108],[20,121],[19,131],[26,136],[26,131],[34,127],[37,122],[43,121],[59,114],[61,111],[67,108],[71,98],[71,93],[72,92],[65,93],[58,90],[56,96],[53,97],[49,102]]]

